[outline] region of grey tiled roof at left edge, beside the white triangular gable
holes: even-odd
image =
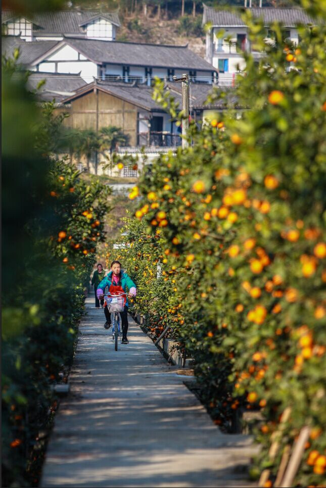
[[[47,53],[56,44],[58,44],[57,40],[26,42],[19,36],[2,36],[2,54],[10,57],[15,48],[19,47],[20,56],[18,62],[24,66],[28,66],[34,60]]]

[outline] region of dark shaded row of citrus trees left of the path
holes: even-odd
[[[18,57],[15,55],[15,57]],[[108,187],[53,157],[62,117],[41,110],[26,75],[3,59],[3,483],[35,486],[38,432],[57,405],[104,240]],[[18,122],[19,121],[19,122]]]

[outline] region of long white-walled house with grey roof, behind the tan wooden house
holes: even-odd
[[[182,73],[188,73],[194,82],[212,84],[217,80],[217,70],[187,45],[107,42],[65,36],[61,41],[25,42],[20,37],[15,39],[21,52],[19,60],[26,69],[52,73],[80,72],[86,83],[94,78],[119,78],[126,83],[136,79],[150,85],[155,76],[172,79],[173,75]],[[3,52],[13,50],[10,36],[4,37],[3,44]]]

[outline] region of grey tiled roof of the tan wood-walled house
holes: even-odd
[[[163,111],[162,108],[152,99],[153,88],[145,84],[123,83],[119,81],[97,81],[88,83],[85,87],[81,87],[76,91],[76,94],[69,96],[64,100],[64,103],[69,103],[74,99],[92,91],[97,86],[100,90],[118,97],[121,100],[136,105],[145,110]],[[176,94],[176,102],[181,105],[181,95]]]

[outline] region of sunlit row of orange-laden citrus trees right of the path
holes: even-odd
[[[251,473],[264,471],[264,486],[307,426],[293,485],[317,486],[326,467],[325,28],[301,27],[294,46],[275,23],[268,46],[263,23],[244,20],[263,55],[258,65],[245,55],[246,76],[235,89],[242,118],[230,107],[202,129],[191,124],[193,148],[162,155],[129,198],[139,199],[135,219],[152,248],[146,254],[153,257],[156,242],[154,255],[164,256],[157,303],[167,292],[170,311],[164,303],[152,308],[167,315],[195,359],[216,423],[231,429],[238,411],[261,408],[262,449]],[[154,96],[174,117],[159,81]],[[209,101],[218,96],[226,93]],[[128,249],[135,266],[143,245],[136,254]]]

